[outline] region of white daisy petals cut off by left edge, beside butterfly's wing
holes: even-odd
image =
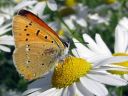
[[[11,23],[0,26],[0,50],[5,52],[11,51],[10,48],[7,47],[8,45],[14,45],[13,37],[11,35],[5,35],[5,33],[12,30],[10,26]]]

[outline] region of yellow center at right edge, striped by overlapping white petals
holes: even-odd
[[[115,54],[113,54],[113,56],[128,56],[128,54],[126,54],[126,53],[115,53]],[[123,66],[123,67],[128,68],[128,61],[120,62],[120,63],[114,63],[114,65],[119,65],[119,66]],[[112,74],[117,74],[117,75],[128,74],[128,71],[109,70],[108,72],[110,72]]]

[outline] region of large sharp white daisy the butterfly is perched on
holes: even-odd
[[[77,43],[81,51],[85,51],[84,45]],[[76,55],[74,51],[74,55]],[[83,53],[80,53],[83,54]],[[85,54],[90,54],[85,53]],[[106,69],[121,69],[119,67],[101,67],[108,63],[117,63],[127,60],[128,57],[110,57],[98,61],[87,60],[68,56],[43,78],[38,79],[28,86],[23,96],[106,96],[108,91],[104,84],[113,86],[127,85],[127,81],[107,73]]]

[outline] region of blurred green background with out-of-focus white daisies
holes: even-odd
[[[0,96],[20,96],[29,84],[12,61],[12,19],[20,9],[37,14],[69,40],[82,42],[83,33],[93,38],[99,33],[113,52],[115,27],[128,16],[128,0],[0,0]],[[108,89],[109,96],[128,96],[127,86]]]

